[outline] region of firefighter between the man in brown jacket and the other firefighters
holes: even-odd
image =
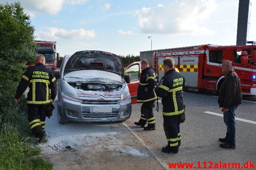
[[[163,65],[166,74],[155,88],[157,96],[162,97],[164,130],[168,141],[162,152],[178,153],[181,139],[179,125],[184,112],[182,87],[185,79],[175,70],[172,58],[165,58]]]

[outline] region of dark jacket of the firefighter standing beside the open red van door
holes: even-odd
[[[137,92],[137,102],[143,103],[156,100],[157,95],[156,92],[154,91],[156,85],[157,74],[155,73],[155,71],[151,67],[142,70]],[[146,87],[148,88],[147,92],[145,92],[144,90]]]

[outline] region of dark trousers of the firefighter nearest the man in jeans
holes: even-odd
[[[171,152],[178,152],[181,143],[179,124],[181,120],[181,114],[174,116],[165,116],[164,118],[164,130],[165,136],[170,146]]]

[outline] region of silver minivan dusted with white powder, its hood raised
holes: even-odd
[[[131,116],[130,77],[116,54],[78,51],[65,55],[58,78],[59,123],[124,121]]]

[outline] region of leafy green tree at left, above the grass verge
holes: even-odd
[[[13,95],[26,62],[34,61],[37,54],[30,16],[20,2],[0,4],[0,113]]]

